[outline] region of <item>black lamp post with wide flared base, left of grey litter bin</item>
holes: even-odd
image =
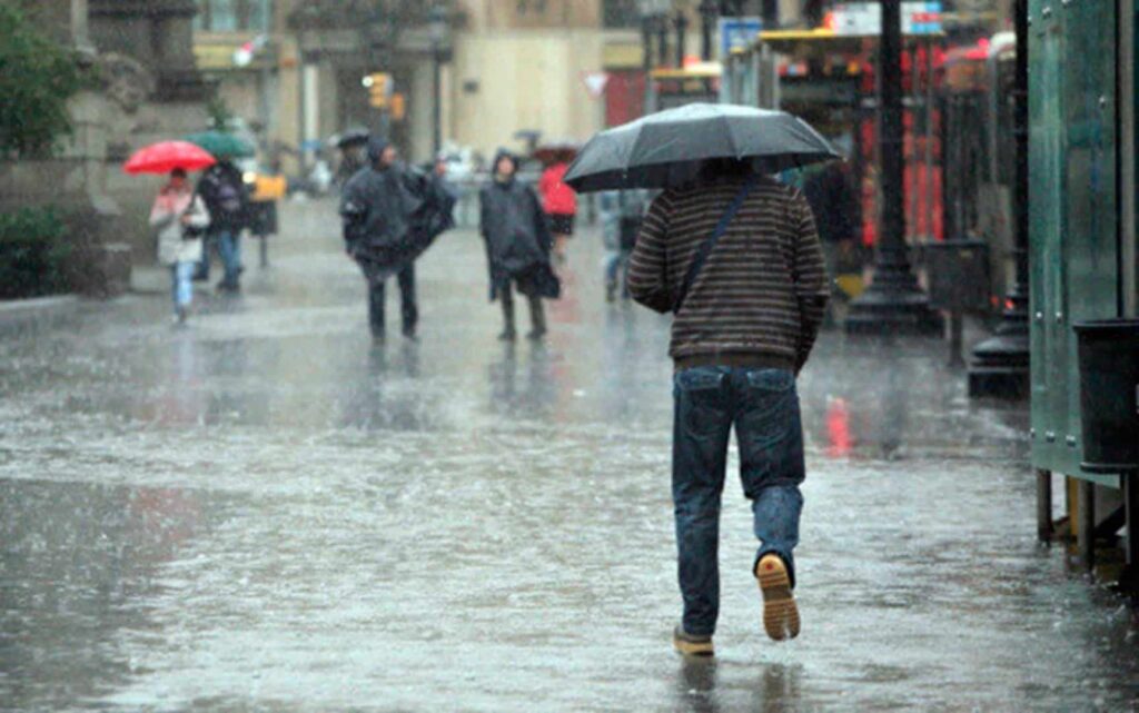
[[[874,279],[851,303],[847,334],[941,335],[941,315],[918,286],[906,244],[902,129],[901,1],[882,0],[882,43],[878,48],[878,149],[882,205]]]

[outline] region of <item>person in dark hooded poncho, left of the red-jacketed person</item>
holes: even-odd
[[[500,150],[494,157],[494,174],[478,196],[480,232],[486,243],[491,278],[491,301],[502,303],[505,327],[500,339],[517,338],[514,319],[514,290],[530,303],[531,339],[546,334],[542,298],[556,300],[562,290],[550,267],[552,237],[534,189],[518,182],[518,159]]]

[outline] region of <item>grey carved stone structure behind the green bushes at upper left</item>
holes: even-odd
[[[100,85],[71,104],[74,133],[49,158],[0,163],[0,210],[54,204],[92,253],[90,292],[123,287],[122,264],[153,259],[146,226],[161,180],[122,163],[151,141],[206,124],[211,87],[196,72],[191,0],[38,0],[31,17],[98,66]],[[112,264],[114,263],[114,264]]]

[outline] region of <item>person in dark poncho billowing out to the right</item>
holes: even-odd
[[[429,178],[403,169],[398,158],[391,144],[372,138],[370,164],[349,179],[341,198],[345,248],[368,280],[368,318],[377,339],[384,338],[384,282],[392,274],[400,285],[403,336],[416,337],[415,259],[452,224],[453,199]]]

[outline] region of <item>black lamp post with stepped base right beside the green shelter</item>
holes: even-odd
[[[1016,183],[1013,186],[1016,279],[1005,298],[997,333],[973,350],[969,395],[1023,399],[1029,395],[1029,8],[1014,5],[1016,75],[1013,89],[1013,136]]]

